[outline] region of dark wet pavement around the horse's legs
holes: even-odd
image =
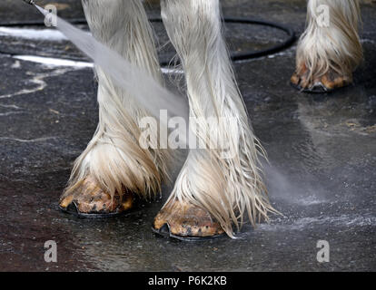
[[[40,20],[29,6],[14,2],[0,4],[3,23]],[[78,1],[55,2],[63,17],[82,18]],[[302,33],[303,0],[223,6],[225,15],[281,22]],[[153,5],[149,10],[156,15]],[[0,270],[376,270],[376,5],[368,1],[362,12],[366,61],[349,88],[323,95],[294,91],[289,78],[295,47],[234,64],[254,131],[271,161],[266,181],[272,204],[284,215],[273,216],[270,225],[245,227],[236,240],[183,243],[154,236],[151,224],[162,201],[106,220],[60,212],[57,200],[72,162],[98,119],[94,74],[0,54]],[[284,37],[244,25],[229,25],[226,32],[233,51],[260,49]],[[25,35],[0,33],[0,51],[86,60],[64,40]],[[161,50],[162,59],[170,55],[169,46]],[[163,199],[170,190],[163,189]],[[47,240],[57,242],[55,264],[45,263]],[[330,243],[330,263],[317,262],[318,240]]]

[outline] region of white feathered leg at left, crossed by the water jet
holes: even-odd
[[[89,27],[98,41],[163,84],[152,28],[141,0],[83,0],[83,5]],[[100,67],[95,71],[99,83],[99,124],[93,140],[74,162],[63,198],[79,194],[88,176],[113,198],[115,193],[122,195],[124,189],[151,198],[161,191],[163,179],[168,178],[170,152],[159,149],[167,148],[163,144],[154,147],[157,149],[140,146],[140,121],[151,114],[116,86]],[[151,131],[158,141],[158,128]]]

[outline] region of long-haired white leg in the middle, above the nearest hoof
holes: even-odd
[[[186,73],[191,130],[205,149],[190,150],[168,199],[206,209],[234,237],[273,212],[262,182],[262,147],[253,135],[223,40],[218,0],[163,0],[163,24]],[[212,124],[207,121],[214,120]],[[213,136],[215,136],[213,138]],[[213,139],[225,142],[227,156]]]

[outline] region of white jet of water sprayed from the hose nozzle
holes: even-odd
[[[49,14],[43,7],[35,5],[35,0],[24,0],[24,2],[34,5],[45,16]],[[130,63],[104,43],[98,42],[93,35],[74,27],[57,15],[54,15],[54,17],[56,18],[54,26],[79,50],[91,58],[94,64],[99,66],[104,73],[111,76],[114,83],[128,92],[134,98],[134,101],[142,105],[146,111],[160,119],[161,111],[165,110],[168,111],[169,116],[181,117],[186,124],[189,123],[186,98],[170,92],[156,82],[149,73]],[[186,144],[185,131],[180,136],[183,143]]]

